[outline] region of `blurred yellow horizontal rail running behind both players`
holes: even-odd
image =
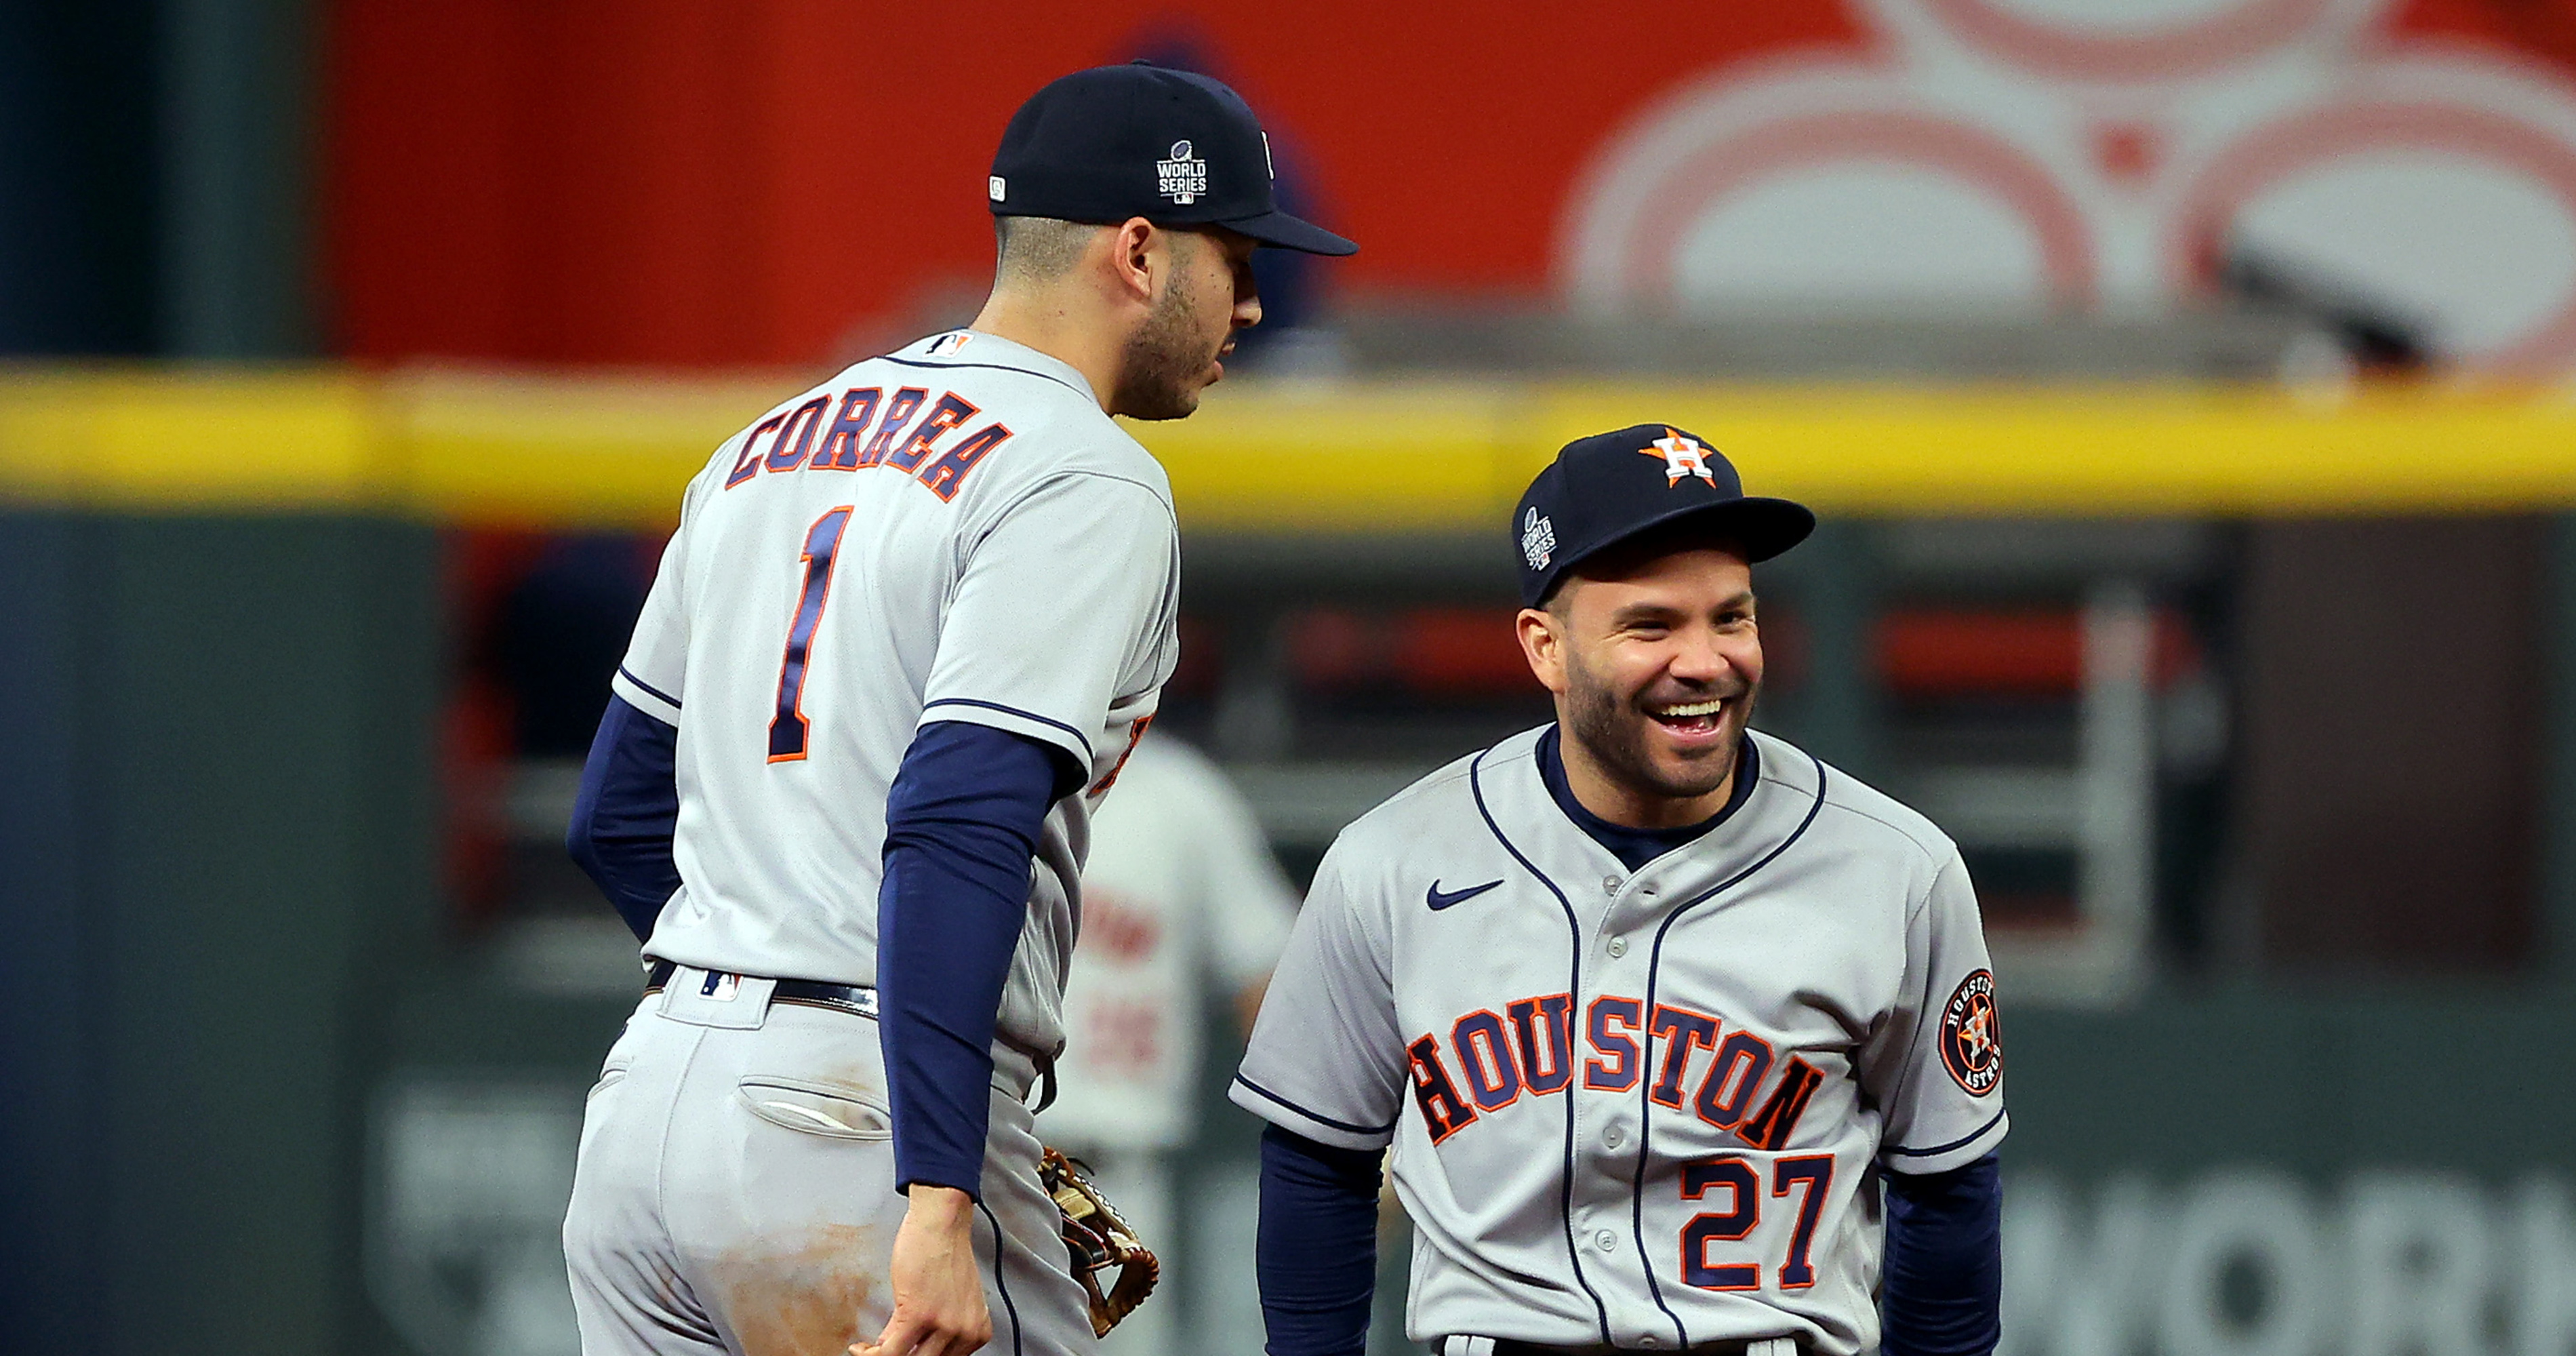
[[[793,374],[0,371],[0,498],[657,526]],[[1133,425],[1193,528],[1499,526],[1569,438],[1677,423],[1826,513],[2576,508],[2576,394],[2257,387],[1257,384]]]

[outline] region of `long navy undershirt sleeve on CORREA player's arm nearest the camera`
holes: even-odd
[[[1028,861],[1072,755],[987,724],[922,727],[886,794],[878,1044],[894,1183],[981,1199],[992,1034],[1028,918]]]

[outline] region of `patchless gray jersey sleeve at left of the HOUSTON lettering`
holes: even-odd
[[[1383,902],[1347,887],[1340,853],[1314,874],[1226,1096],[1319,1145],[1381,1150],[1396,1137],[1404,1039]]]

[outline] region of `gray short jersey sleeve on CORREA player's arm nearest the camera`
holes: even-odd
[[[1162,498],[1110,474],[1048,479],[971,541],[922,724],[1010,730],[1090,768],[1110,706],[1162,686],[1177,608],[1180,536]]]

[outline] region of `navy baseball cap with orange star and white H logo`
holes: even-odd
[[[1803,503],[1747,495],[1734,461],[1669,423],[1574,438],[1512,510],[1522,606],[1546,601],[1587,557],[1682,521],[1749,562],[1816,531]]]

